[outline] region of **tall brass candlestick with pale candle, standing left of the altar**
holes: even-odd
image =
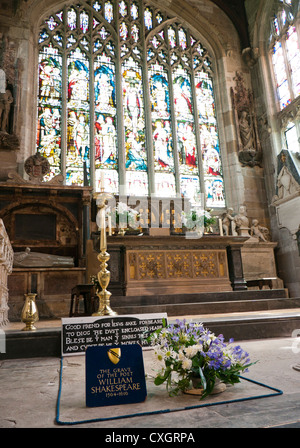
[[[100,224],[100,253],[97,257],[100,261],[100,271],[98,272],[97,277],[102,291],[97,292],[97,296],[99,297],[99,307],[98,311],[93,313],[93,316],[116,316],[118,314],[110,307],[111,293],[106,289],[110,282],[110,272],[107,269],[107,262],[110,259],[110,255],[109,253],[107,253],[105,209],[106,200],[111,197],[111,194],[104,192],[101,192],[97,195],[97,206],[99,208]]]

